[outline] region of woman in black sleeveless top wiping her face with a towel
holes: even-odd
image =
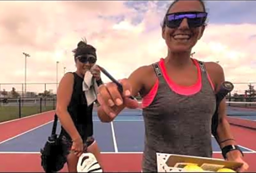
[[[93,138],[93,104],[87,106],[85,93],[82,90],[84,75],[87,71],[92,73],[98,85],[102,84],[100,70],[95,65],[96,49],[80,41],[73,52],[77,69],[76,72],[66,73],[61,79],[56,103],[56,114],[62,125],[59,136],[68,149],[69,172],[77,172],[78,158],[85,150],[93,153],[98,163],[102,165],[100,151]]]

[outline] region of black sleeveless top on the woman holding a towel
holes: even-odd
[[[68,112],[82,139],[86,140],[87,137],[93,135],[93,104],[87,106],[85,93],[84,91],[82,91],[83,78],[81,78],[75,72],[73,72],[72,74],[74,75],[74,85],[72,97],[68,105]],[[61,127],[60,135],[64,135],[67,138],[71,139],[71,137],[63,127]]]

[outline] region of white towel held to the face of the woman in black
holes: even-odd
[[[87,105],[91,105],[94,101],[97,100],[98,94],[98,85],[96,79],[93,77],[90,71],[85,73],[84,82],[83,82],[83,91],[85,92],[85,98]]]

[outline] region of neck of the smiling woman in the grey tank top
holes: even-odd
[[[191,65],[192,61],[190,58],[190,52],[171,52],[168,51],[165,59],[167,65],[173,68],[181,69]]]

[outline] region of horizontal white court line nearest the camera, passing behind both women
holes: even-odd
[[[221,151],[213,151],[213,153],[221,153]],[[243,151],[243,153],[256,154],[253,151]],[[0,154],[40,154],[34,151],[0,151]],[[143,154],[143,152],[101,152],[101,154]]]

